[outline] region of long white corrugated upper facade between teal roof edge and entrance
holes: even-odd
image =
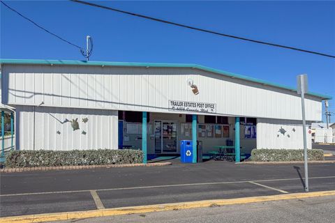
[[[6,65],[3,75],[9,105],[170,112],[169,100],[183,100],[216,103],[219,115],[301,119],[295,92],[198,69]],[[321,99],[306,98],[306,119],[320,121]]]

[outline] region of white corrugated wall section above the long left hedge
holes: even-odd
[[[69,122],[76,118],[79,130],[73,130]],[[88,118],[87,123],[83,118]],[[34,118],[34,107],[18,106],[17,149],[117,149],[117,121],[113,110],[36,107]]]

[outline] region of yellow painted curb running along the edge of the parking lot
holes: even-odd
[[[38,215],[22,215],[15,217],[0,217],[0,223],[30,223],[30,222],[50,222],[61,220],[72,220],[88,217],[103,217],[112,215],[128,215],[135,213],[149,213],[164,210],[181,210],[189,208],[206,208],[210,206],[225,206],[232,204],[255,203],[264,201],[279,201],[287,199],[304,199],[308,197],[323,197],[335,195],[335,190],[308,192],[308,193],[295,193],[295,194],[279,194],[260,197],[243,197],[237,199],[217,199],[206,201],[191,201],[181,203],[164,203],[154,204],[147,206],[133,206],[125,208],[107,208],[100,210],[86,210],[64,213],[47,213]]]

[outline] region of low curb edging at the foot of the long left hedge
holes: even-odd
[[[73,170],[73,169],[95,169],[95,168],[111,168],[111,167],[162,167],[171,165],[172,162],[155,162],[155,163],[135,163],[135,164],[105,164],[91,166],[63,166],[63,167],[21,167],[21,168],[3,168],[1,173],[15,173],[26,171],[50,171],[50,170]]]

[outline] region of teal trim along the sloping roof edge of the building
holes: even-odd
[[[274,86],[279,89],[285,89],[288,91],[297,91],[297,89],[282,84],[275,84],[267,82],[262,79],[253,77],[247,77],[244,75],[237,75],[232,72],[224,70],[218,70],[214,68],[208,68],[206,66],[200,66],[192,63],[127,63],[127,62],[106,62],[106,61],[62,61],[62,60],[29,60],[29,59],[0,59],[0,63],[3,64],[45,64],[45,65],[77,65],[77,66],[124,66],[124,67],[154,67],[154,68],[196,68],[198,70],[204,70],[208,72],[215,72],[219,75],[225,75],[227,77],[233,77],[237,79],[243,79],[248,82],[254,82],[258,84],[264,84],[268,86]],[[332,96],[323,95],[320,93],[308,92],[308,95],[312,95],[322,100],[331,100]]]

